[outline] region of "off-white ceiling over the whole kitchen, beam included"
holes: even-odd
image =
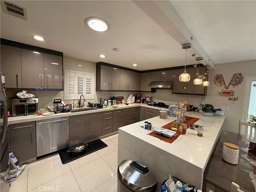
[[[28,21],[6,15],[1,8],[1,38],[60,51],[72,58],[137,70],[183,66],[186,51],[181,45],[192,42],[193,36],[196,56],[207,58],[204,64],[209,59],[212,67],[214,63],[256,59],[255,1],[9,2],[26,7]],[[170,18],[168,8],[172,6],[177,12],[172,11]],[[98,33],[88,29],[84,20],[90,16],[107,20],[110,30]],[[156,22],[161,19],[164,24]],[[177,27],[177,32],[173,24],[184,25]],[[31,36],[35,34],[46,41],[34,40]],[[192,53],[190,48],[187,64],[198,63]],[[138,66],[133,67],[134,63]]]

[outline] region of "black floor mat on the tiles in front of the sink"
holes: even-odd
[[[64,151],[59,152],[59,155],[60,155],[62,164],[66,164],[80,157],[86,156],[92,152],[103,149],[105,147],[107,147],[107,145],[102,140],[98,139],[92,142],[88,142],[88,146],[86,146],[86,148],[82,152],[72,153],[72,152],[67,152],[67,149],[66,149]]]

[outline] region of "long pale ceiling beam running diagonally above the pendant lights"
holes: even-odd
[[[192,32],[188,29],[185,22],[176,12],[170,1],[133,1],[142,11],[144,11],[152,20],[154,20],[160,27],[162,27],[172,38],[174,38],[178,43],[180,43],[180,48],[182,49],[182,44],[192,43],[191,37],[194,41],[194,52],[196,57],[202,56],[204,60],[201,63],[205,65],[210,65],[210,68],[214,68],[214,63],[206,54],[204,49],[198,43]],[[193,48],[188,49],[190,54],[193,53]]]

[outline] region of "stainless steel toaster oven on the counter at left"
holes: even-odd
[[[38,98],[12,99],[12,116],[32,115],[38,110]]]

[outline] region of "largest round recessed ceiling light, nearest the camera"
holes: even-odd
[[[86,26],[97,32],[107,32],[110,30],[108,22],[98,17],[88,17],[85,21]]]

